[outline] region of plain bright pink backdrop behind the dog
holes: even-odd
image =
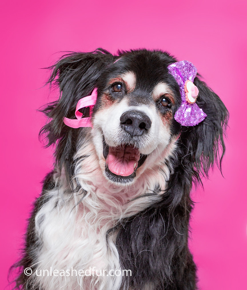
[[[42,88],[59,51],[159,48],[193,62],[230,112],[223,175],[215,168],[196,201],[191,250],[200,289],[246,287],[246,1],[2,1],[1,276],[22,235],[52,153],[37,135]],[[54,54],[56,53],[56,54]],[[56,97],[56,93],[49,98]],[[245,111],[244,111],[245,110]],[[6,289],[10,289],[9,286]]]

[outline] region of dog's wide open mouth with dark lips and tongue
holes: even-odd
[[[137,168],[146,160],[147,155],[141,154],[133,145],[121,144],[117,147],[108,146],[103,141],[106,176],[114,181],[126,183],[133,181]]]

